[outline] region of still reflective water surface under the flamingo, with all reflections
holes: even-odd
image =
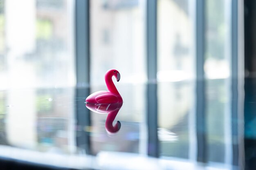
[[[106,86],[0,91],[0,157],[77,169],[254,166],[255,93],[240,100],[226,79],[206,83],[202,103],[191,81],[119,84],[119,104],[85,104]]]

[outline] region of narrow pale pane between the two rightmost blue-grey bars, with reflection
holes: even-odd
[[[231,161],[231,86],[228,0],[206,1],[206,125],[208,161]],[[218,12],[216,12],[218,11]]]

